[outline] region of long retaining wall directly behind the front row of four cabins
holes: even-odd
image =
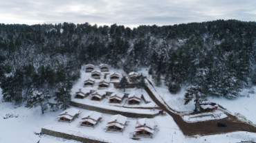
[[[144,113],[130,113],[130,112],[124,112],[124,111],[116,111],[116,110],[111,110],[111,109],[103,109],[100,107],[93,107],[87,104],[80,104],[77,102],[73,102],[71,101],[71,105],[74,107],[79,107],[82,109],[88,109],[88,110],[92,110],[92,111],[98,111],[101,113],[108,113],[108,114],[120,114],[120,115],[125,115],[125,117],[130,117],[130,118],[154,118],[156,117],[156,115],[158,115],[158,113],[155,114],[144,114]]]

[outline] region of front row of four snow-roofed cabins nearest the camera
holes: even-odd
[[[80,110],[66,109],[57,117],[59,122],[72,122],[80,115]],[[89,111],[82,116],[80,126],[91,126],[95,128],[102,120],[102,113],[96,111]],[[106,131],[124,131],[127,126],[127,117],[123,115],[112,115],[106,125]],[[152,120],[147,118],[138,119],[135,125],[134,136],[152,137],[154,134],[155,124]]]

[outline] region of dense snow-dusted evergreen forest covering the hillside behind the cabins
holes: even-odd
[[[3,99],[27,107],[62,104],[81,65],[107,63],[125,72],[150,67],[171,93],[198,85],[207,96],[235,98],[256,83],[256,23],[217,20],[125,28],[73,23],[0,24]],[[56,104],[57,103],[57,104]]]

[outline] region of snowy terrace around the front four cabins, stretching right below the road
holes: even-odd
[[[133,143],[133,142],[239,142],[241,140],[256,140],[255,133],[236,132],[226,133],[221,135],[208,135],[208,136],[197,136],[197,137],[185,137],[179,130],[170,115],[157,116],[151,120],[157,125],[156,131],[154,131],[153,138],[141,137],[140,141],[131,140],[130,137],[134,135],[134,129],[136,125],[136,118],[128,118],[128,124],[125,126],[124,131],[121,132],[106,132],[106,125],[111,118],[111,115],[102,115],[102,121],[95,126],[95,128],[88,126],[80,126],[81,117],[89,112],[88,110],[80,109],[82,111],[79,118],[75,119],[71,123],[57,122],[53,120],[43,128],[50,129],[53,131],[59,131],[63,133],[69,133],[82,137],[89,137],[95,140],[104,140],[113,143]],[[172,141],[173,140],[173,141]],[[206,141],[205,141],[206,140]]]

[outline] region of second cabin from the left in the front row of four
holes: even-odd
[[[80,121],[80,126],[92,126],[93,128],[102,119],[102,113],[96,111],[89,111],[84,115],[82,121]]]

